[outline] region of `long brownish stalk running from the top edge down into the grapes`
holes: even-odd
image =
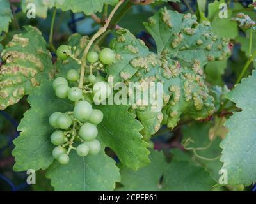
[[[89,41],[88,45],[84,49],[83,57],[82,57],[82,64],[81,64],[81,74],[80,74],[80,80],[79,80],[79,88],[83,88],[83,82],[84,82],[84,73],[85,73],[85,67],[86,67],[86,57],[90,50],[90,47],[92,46],[93,42],[99,38],[103,33],[106,32],[108,29],[108,26],[111,22],[111,19],[115,15],[115,12],[118,10],[118,8],[125,2],[125,0],[120,0],[118,4],[116,4],[115,8],[111,11],[108,20],[106,20],[106,24],[104,24],[103,27],[100,27],[100,29],[92,36],[91,40]]]

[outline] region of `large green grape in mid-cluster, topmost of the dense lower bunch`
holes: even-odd
[[[79,101],[74,108],[74,117],[80,122],[84,122],[92,116],[92,105],[87,101]]]

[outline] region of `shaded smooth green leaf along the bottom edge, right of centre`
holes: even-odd
[[[211,191],[214,185],[214,180],[203,168],[186,161],[168,164],[163,152],[153,151],[149,157],[151,163],[137,171],[120,165],[124,187],[118,191]]]

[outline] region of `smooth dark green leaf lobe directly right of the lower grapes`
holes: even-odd
[[[143,128],[129,113],[129,105],[100,105],[95,108],[104,114],[97,126],[99,138],[117,154],[118,159],[132,169],[138,169],[149,163],[148,143],[142,140],[139,131]]]

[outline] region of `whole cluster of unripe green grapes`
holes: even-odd
[[[61,45],[57,50],[57,56],[61,60],[72,56],[70,47]],[[111,64],[115,61],[115,53],[109,48],[103,49],[99,55],[92,51],[88,52],[87,60],[90,62],[91,68],[92,64],[97,64],[99,60],[103,64]],[[52,156],[61,164],[69,162],[68,155],[72,149],[76,150],[81,157],[96,155],[101,149],[100,142],[96,137],[98,135],[97,125],[102,122],[103,113],[93,109],[92,103],[93,101],[100,103],[108,98],[111,89],[103,77],[93,75],[92,69],[86,78],[88,84],[84,85],[82,89],[68,85],[68,81],[76,83],[78,80],[79,72],[76,69],[70,69],[66,78],[57,77],[52,83],[58,98],[68,98],[75,104],[74,110],[65,113],[54,112],[49,117],[49,124],[56,128],[56,131],[51,135],[52,144],[57,146],[53,149]],[[96,94],[100,96],[97,99],[93,97]],[[78,142],[81,143],[74,147],[74,143],[77,144]]]

